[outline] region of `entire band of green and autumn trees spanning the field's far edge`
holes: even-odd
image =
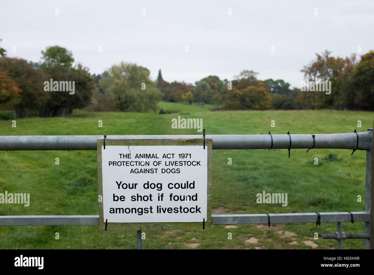
[[[74,109],[156,112],[159,100],[215,104],[220,110],[372,110],[374,106],[374,51],[359,61],[356,55],[316,54],[301,71],[310,81],[331,81],[330,94],[291,89],[282,79],[259,80],[252,70],[243,70],[230,81],[210,75],[194,85],[168,83],[161,70],[151,80],[147,68],[126,62],[91,75],[82,64],[73,66],[73,55],[65,48],[50,46],[41,54],[40,62],[27,62],[6,57],[0,47],[1,109],[14,110],[18,117],[48,117],[69,115]],[[73,83],[74,92],[61,90],[61,83],[67,82]]]

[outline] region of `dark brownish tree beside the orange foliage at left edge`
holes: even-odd
[[[0,69],[6,72],[20,89],[19,101],[13,106],[18,117],[24,117],[28,111],[39,110],[47,102],[49,94],[43,89],[43,74],[26,60],[0,58]]]

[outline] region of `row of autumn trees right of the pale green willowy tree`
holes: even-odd
[[[282,79],[259,80],[257,72],[243,70],[230,82],[218,76],[208,76],[195,82],[168,83],[162,79],[161,71],[157,87],[163,100],[204,102],[219,104],[220,110],[373,110],[374,106],[374,51],[361,56],[355,54],[341,58],[331,56],[330,51],[316,54],[316,59],[301,70],[310,85],[330,82],[331,91],[291,88]],[[307,83],[309,83],[307,82]]]

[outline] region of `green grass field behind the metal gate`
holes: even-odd
[[[173,114],[76,113],[69,117],[0,121],[1,135],[123,135],[197,134],[196,129],[172,129],[171,119],[203,119],[206,134],[323,134],[352,132],[357,120],[366,131],[373,127],[373,113],[358,111],[210,111],[210,106],[160,103]],[[182,114],[181,114],[182,113]],[[98,128],[98,120],[103,127]],[[275,120],[276,127],[270,127]],[[313,149],[214,150],[212,208],[215,213],[304,213],[364,211],[366,152]],[[338,161],[325,159],[336,154]],[[59,158],[59,165],[55,165]],[[232,165],[227,159],[232,158]],[[314,158],[319,164],[314,165]],[[0,152],[0,193],[30,193],[30,206],[0,204],[4,215],[98,215],[96,151]],[[256,194],[288,193],[288,205],[257,204]],[[357,196],[362,202],[357,202]],[[297,236],[283,238],[279,231]],[[337,248],[337,241],[313,239],[314,233],[333,233],[336,223],[239,224],[212,230],[147,231],[143,248]],[[347,233],[363,233],[364,224],[343,223]],[[55,239],[55,233],[59,239]],[[232,239],[228,239],[228,233]],[[250,238],[258,239],[250,243]],[[254,240],[254,239],[252,239]],[[246,242],[247,241],[247,242]],[[199,244],[199,245],[197,245]],[[349,239],[343,248],[364,247],[363,240]],[[0,248],[136,248],[135,231],[101,231],[98,226],[0,227]]]

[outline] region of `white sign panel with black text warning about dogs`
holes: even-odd
[[[207,220],[208,148],[104,146],[104,222]]]

